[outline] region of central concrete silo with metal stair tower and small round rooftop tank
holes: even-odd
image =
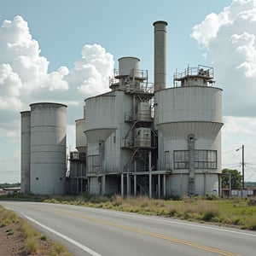
[[[119,58],[109,81],[112,91],[85,100],[90,194],[136,193],[131,173],[148,168],[143,154],[148,157],[151,148],[153,91],[139,64],[137,57]]]

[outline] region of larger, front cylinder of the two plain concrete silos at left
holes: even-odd
[[[31,104],[31,193],[65,193],[67,106]]]

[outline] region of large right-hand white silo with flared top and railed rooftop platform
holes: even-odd
[[[212,67],[176,73],[176,87],[154,94],[159,169],[170,170],[171,195],[218,195],[221,173],[222,90]]]

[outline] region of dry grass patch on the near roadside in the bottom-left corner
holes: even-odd
[[[44,236],[38,230],[34,229],[31,224],[18,217],[15,212],[9,211],[0,206],[0,227],[9,226],[12,223],[19,224],[22,236],[24,237],[25,251],[28,255],[35,255],[42,251],[44,252],[44,246],[42,247],[39,241],[48,241],[47,236]],[[6,232],[7,236],[11,236],[14,234],[15,230],[9,229]],[[48,245],[49,247],[47,249],[50,254],[47,253],[44,255],[71,256],[71,254],[67,252],[67,249],[58,242],[49,241]]]

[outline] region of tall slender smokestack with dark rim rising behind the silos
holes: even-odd
[[[166,88],[166,21],[155,21],[154,26],[154,91]]]

